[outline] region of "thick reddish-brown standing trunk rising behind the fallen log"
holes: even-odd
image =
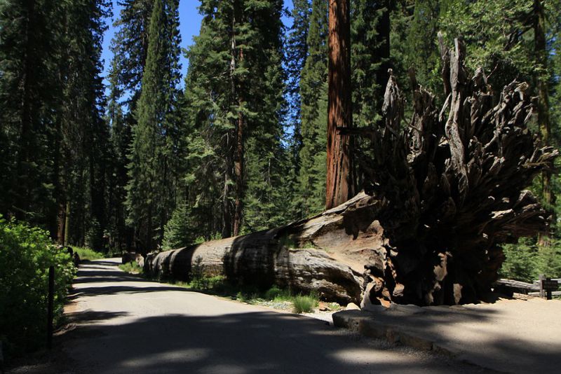
[[[329,2],[329,76],[327,109],[327,181],[325,208],[354,195],[351,139],[337,127],[352,127],[351,15],[349,0]]]

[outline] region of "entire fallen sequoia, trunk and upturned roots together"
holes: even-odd
[[[440,109],[410,74],[414,113],[403,128],[404,100],[391,76],[382,120],[340,129],[370,141],[358,152],[365,193],[288,226],[151,254],[146,272],[188,279],[197,263],[208,275],[363,306],[480,300],[504,261],[499,244],[548,230],[524,188],[557,151],[527,129],[534,103],[526,83],[507,85],[494,104],[483,71],[468,78],[461,42],[440,45]]]

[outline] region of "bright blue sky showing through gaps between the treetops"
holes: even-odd
[[[107,72],[111,66],[111,58],[113,57],[111,50],[109,50],[111,39],[113,39],[115,33],[113,22],[119,17],[119,13],[121,11],[121,8],[117,5],[117,0],[112,1],[113,18],[111,20],[106,20],[109,29],[107,29],[103,38],[102,60],[104,60],[104,77],[107,76]],[[198,31],[201,28],[202,17],[198,13],[198,4],[200,4],[198,0],[180,0],[180,32],[182,37],[182,48],[187,48],[193,43],[193,36],[198,35]],[[285,7],[292,9],[292,0],[285,0]],[[286,26],[290,26],[290,20],[288,18],[283,18],[283,22],[285,22]],[[183,55],[181,56],[181,64],[182,74],[185,76],[189,62]],[[107,85],[107,81],[105,83]]]

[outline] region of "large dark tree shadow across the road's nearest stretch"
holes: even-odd
[[[95,335],[95,340],[82,338]],[[443,357],[419,358],[325,322],[276,312],[168,315],[72,331],[69,356],[95,373],[473,372]],[[419,364],[422,367],[419,367]]]

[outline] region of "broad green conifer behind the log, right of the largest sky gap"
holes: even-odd
[[[202,1],[199,10],[186,80],[189,201],[212,216],[194,221],[228,237],[244,217],[262,228],[288,210],[273,191],[286,165],[282,1]]]

